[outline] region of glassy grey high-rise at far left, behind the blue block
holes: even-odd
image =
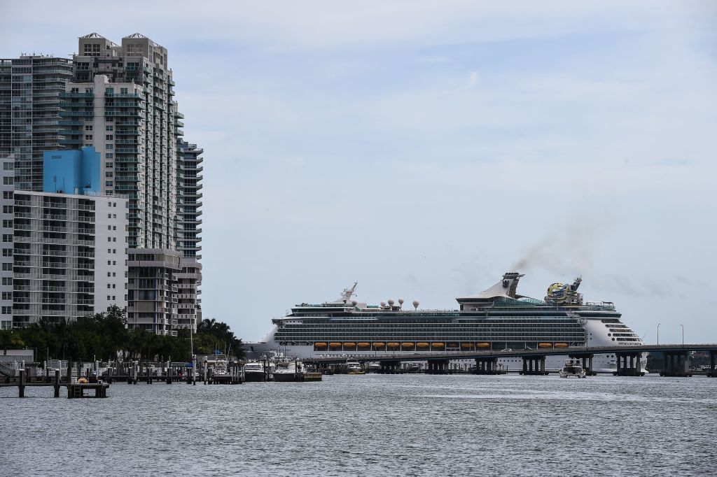
[[[42,154],[58,147],[60,92],[71,78],[70,59],[0,59],[0,158],[14,155],[16,189],[42,191]]]

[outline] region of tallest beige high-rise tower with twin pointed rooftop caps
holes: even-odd
[[[130,247],[174,249],[181,115],[166,48],[141,34],[115,44],[93,33],[80,37],[73,67],[61,143],[103,155],[102,192],[129,197]]]

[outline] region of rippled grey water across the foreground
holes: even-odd
[[[0,389],[0,474],[716,475],[717,379],[326,376]]]

